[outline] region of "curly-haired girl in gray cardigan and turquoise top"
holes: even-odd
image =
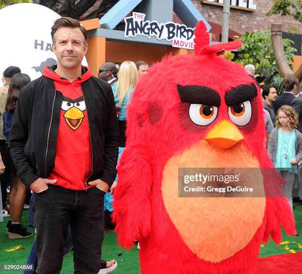
[[[276,115],[276,127],[272,130],[268,141],[268,155],[276,170],[288,183],[283,190],[293,209],[292,191],[297,164],[302,159],[302,134],[295,128],[299,124],[298,114],[288,105],[281,106]]]

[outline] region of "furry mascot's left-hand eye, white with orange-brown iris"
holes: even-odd
[[[218,107],[201,104],[190,104],[189,117],[192,122],[199,126],[211,124],[217,117]]]

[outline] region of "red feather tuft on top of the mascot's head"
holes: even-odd
[[[241,40],[221,43],[210,46],[210,36],[203,21],[199,21],[194,32],[194,53],[195,55],[209,54],[214,55],[223,50],[237,49],[241,46]]]

